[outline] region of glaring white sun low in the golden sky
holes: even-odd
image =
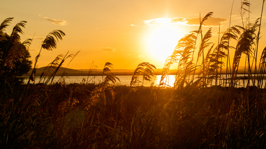
[[[181,36],[181,31],[174,25],[154,26],[148,31],[145,39],[148,55],[164,63],[166,58],[173,53]]]

